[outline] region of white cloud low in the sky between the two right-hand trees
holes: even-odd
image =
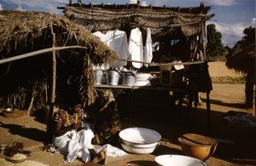
[[[241,37],[244,36],[243,30],[249,27],[249,25],[242,23],[231,25],[215,22],[214,24],[216,26],[216,30],[222,34],[222,43],[230,47],[233,47],[236,42],[241,40]]]

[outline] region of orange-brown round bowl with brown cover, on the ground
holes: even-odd
[[[216,151],[218,142],[203,135],[186,134],[178,138],[184,155],[207,160]]]

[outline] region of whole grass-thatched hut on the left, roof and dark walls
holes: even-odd
[[[90,101],[94,99],[95,93],[93,72],[89,63],[101,63],[104,60],[111,64],[118,60],[118,54],[90,31],[74,24],[64,16],[43,12],[2,10],[0,25],[0,61],[20,54],[52,48],[54,42],[55,47],[86,48],[57,51],[57,77],[61,79],[60,77],[67,75],[65,77],[67,78],[68,74],[79,77],[78,91],[82,97],[89,96]],[[2,81],[6,82],[1,87],[0,106],[24,109],[31,105],[30,100],[33,98],[35,98],[34,104],[38,104],[36,107],[44,106],[50,94],[48,89],[50,89],[49,80],[52,75],[51,55],[52,53],[49,52],[0,65]],[[90,57],[91,61],[88,61],[87,57]],[[41,84],[40,88],[38,88],[39,84]],[[66,90],[61,88],[60,84],[57,86],[59,88],[56,96]],[[20,91],[20,89],[23,90]],[[22,93],[24,90],[26,96]],[[17,99],[22,99],[20,100],[22,103]]]

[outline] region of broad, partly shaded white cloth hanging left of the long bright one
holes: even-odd
[[[108,37],[107,45],[119,54],[119,59],[127,60],[130,54],[128,52],[127,36],[125,31],[108,31],[106,35]],[[126,65],[127,61],[119,60],[110,67],[118,68]]]

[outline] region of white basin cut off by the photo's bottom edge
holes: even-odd
[[[159,166],[207,166],[207,163],[195,157],[187,157],[183,155],[160,155],[154,158],[154,161],[158,163]]]

